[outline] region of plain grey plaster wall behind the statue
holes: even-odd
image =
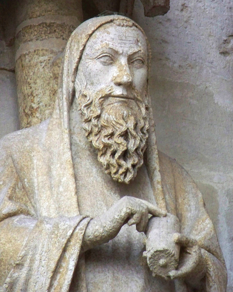
[[[139,0],[133,13],[152,49],[157,143],[202,191],[226,260],[227,291],[233,292],[233,3],[170,2],[164,16],[145,17]],[[0,88],[1,138],[18,129],[13,72],[0,70]]]

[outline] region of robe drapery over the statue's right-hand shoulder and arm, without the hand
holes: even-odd
[[[201,192],[188,172],[174,159],[159,152],[159,161],[168,211],[178,217],[181,233],[196,239],[202,248],[202,256],[207,267],[204,291],[225,292],[227,286],[225,261]],[[192,276],[195,277],[195,274]],[[186,284],[184,286],[186,287]],[[189,292],[190,290],[185,287],[183,291]]]

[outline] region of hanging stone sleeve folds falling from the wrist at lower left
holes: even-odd
[[[87,222],[40,218],[10,271],[3,291],[69,291]],[[85,220],[84,220],[85,221]]]

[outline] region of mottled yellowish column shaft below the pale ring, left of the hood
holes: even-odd
[[[16,60],[20,128],[50,117],[57,94],[61,53],[37,49]]]

